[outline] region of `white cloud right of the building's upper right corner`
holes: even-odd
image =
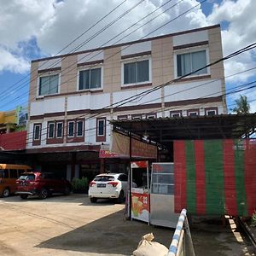
[[[254,0],[224,0],[221,4],[214,4],[212,14],[207,17],[207,20],[212,23],[228,22],[227,27],[222,32],[224,55],[229,55],[231,52],[241,49],[248,44],[252,44],[256,38],[256,1]],[[251,67],[255,67],[256,63],[253,60],[255,50],[248,51],[224,62],[225,75],[241,72]],[[239,80],[244,81],[251,73],[243,73]],[[237,80],[230,78],[229,81]]]

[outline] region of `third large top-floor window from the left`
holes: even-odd
[[[149,60],[124,63],[124,84],[148,82]]]

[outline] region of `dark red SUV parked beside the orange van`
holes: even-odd
[[[15,194],[21,199],[26,199],[28,195],[38,195],[40,199],[45,199],[53,193],[69,195],[72,189],[71,183],[65,179],[57,179],[52,172],[25,172],[16,181]]]

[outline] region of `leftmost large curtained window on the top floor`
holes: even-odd
[[[58,93],[59,75],[49,75],[39,78],[39,96]]]

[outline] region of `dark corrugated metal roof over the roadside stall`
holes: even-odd
[[[242,138],[256,130],[256,113],[112,120],[114,131],[165,145],[174,140]]]

